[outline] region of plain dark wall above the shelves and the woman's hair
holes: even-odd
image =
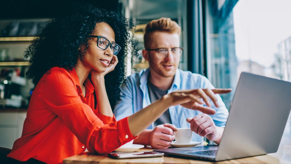
[[[72,10],[75,3],[91,3],[99,8],[120,12],[118,0],[2,0],[0,19],[53,18]]]

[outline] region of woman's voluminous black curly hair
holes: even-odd
[[[122,49],[115,69],[105,75],[105,87],[113,109],[120,94],[120,85],[124,81],[127,54],[137,56],[136,40],[132,35],[135,28],[132,21],[113,11],[96,8],[90,4],[78,4],[77,10],[49,20],[38,36],[25,51],[24,58],[29,59],[26,78],[37,85],[45,73],[52,67],[72,70],[84,53],[78,51],[80,45],[88,49],[88,36],[96,23],[105,22],[115,32],[115,42]],[[132,66],[131,59],[131,66]]]

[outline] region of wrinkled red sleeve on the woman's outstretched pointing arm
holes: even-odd
[[[81,100],[78,88],[68,74],[51,73],[43,80],[46,81],[45,94],[39,95],[43,96],[41,103],[58,115],[90,152],[108,153],[136,138],[131,135],[127,118],[115,121],[114,117],[95,115]]]

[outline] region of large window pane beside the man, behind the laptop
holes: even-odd
[[[235,89],[242,71],[291,81],[290,0],[209,0],[205,6],[207,77],[215,87]],[[234,92],[222,95],[227,108]],[[290,120],[278,157],[291,161]]]

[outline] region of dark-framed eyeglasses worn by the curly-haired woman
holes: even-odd
[[[110,43],[110,41],[108,39],[106,39],[102,36],[89,35],[89,37],[98,38],[97,47],[99,47],[100,49],[107,49],[110,46],[111,51],[114,55],[117,55],[121,49],[120,45],[118,45],[116,43]]]

